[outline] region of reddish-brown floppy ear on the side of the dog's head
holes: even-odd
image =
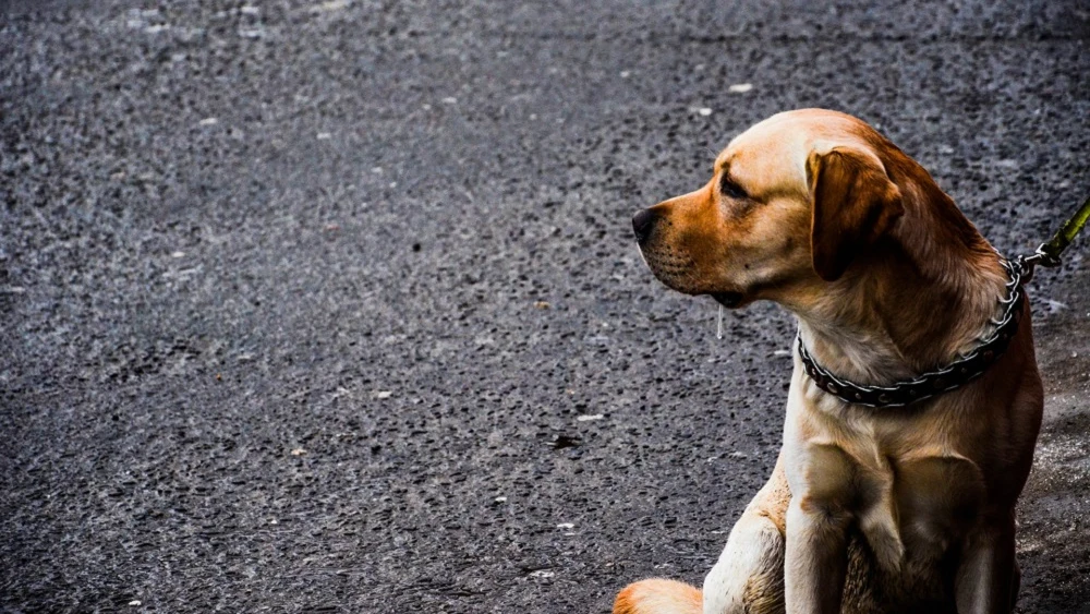
[[[844,275],[851,261],[905,213],[900,190],[877,158],[860,149],[834,147],[811,153],[807,183],[813,197],[813,265],[826,281]]]

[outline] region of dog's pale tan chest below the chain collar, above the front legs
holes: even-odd
[[[944,409],[924,416],[789,404],[791,492],[846,513],[875,564],[909,585],[934,579],[907,576],[937,574],[986,498],[984,474],[968,452],[980,425]]]

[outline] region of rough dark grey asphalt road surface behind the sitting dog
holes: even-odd
[[[1090,190],[1085,1],[821,4],[0,1],[0,612],[700,582],[771,471],[794,327],[716,340],[631,214],[808,106],[1006,253]],[[1025,613],[1090,612],[1088,256],[1032,290]]]

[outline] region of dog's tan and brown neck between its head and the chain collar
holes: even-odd
[[[889,237],[840,279],[788,305],[813,358],[858,384],[943,366],[989,334],[989,320],[1002,311],[998,254],[923,176],[898,178],[905,215]]]

